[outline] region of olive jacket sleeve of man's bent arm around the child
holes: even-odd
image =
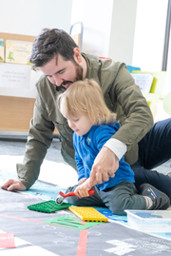
[[[120,64],[109,94],[123,112],[120,120],[117,119],[121,128],[112,137],[123,142],[129,151],[152,127],[151,110],[124,64]]]

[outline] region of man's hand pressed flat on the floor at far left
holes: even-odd
[[[8,190],[8,191],[13,191],[13,190],[23,191],[23,190],[27,189],[27,187],[25,187],[25,185],[22,182],[20,182],[18,180],[12,180],[12,179],[6,181],[1,186],[1,188]]]

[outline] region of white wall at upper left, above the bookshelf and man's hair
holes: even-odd
[[[72,0],[0,0],[0,31],[37,35],[42,29],[70,29]]]

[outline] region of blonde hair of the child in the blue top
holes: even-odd
[[[61,109],[62,100],[65,100],[65,113]],[[93,79],[73,83],[60,94],[57,106],[66,118],[84,114],[93,125],[109,124],[115,119],[115,114],[105,105],[100,86]]]

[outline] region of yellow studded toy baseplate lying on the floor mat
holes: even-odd
[[[93,207],[68,207],[85,222],[107,222],[108,219]]]

